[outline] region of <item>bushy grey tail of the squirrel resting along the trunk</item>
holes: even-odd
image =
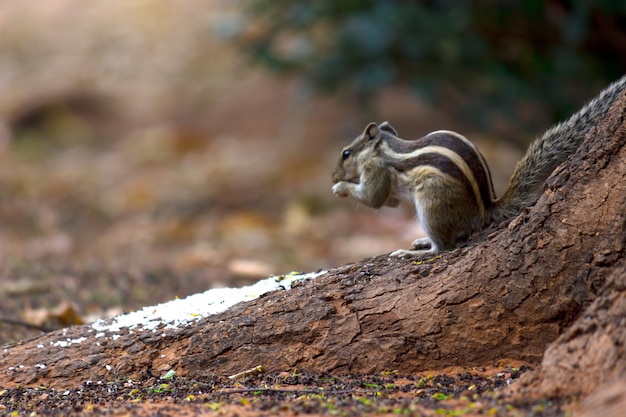
[[[585,139],[587,133],[602,120],[609,108],[626,89],[626,76],[615,81],[568,120],[551,127],[533,142],[517,164],[507,190],[492,212],[492,221],[502,221],[533,204],[543,184]]]

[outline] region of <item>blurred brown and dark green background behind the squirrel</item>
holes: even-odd
[[[330,191],[369,121],[458,130],[501,192],[626,68],[614,1],[7,1],[0,343],[408,247]]]

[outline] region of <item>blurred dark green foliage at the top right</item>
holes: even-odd
[[[245,17],[228,34],[254,62],[364,104],[385,86],[405,85],[474,120],[498,111],[518,113],[516,106],[538,99],[562,117],[626,68],[626,2],[242,0],[242,5]],[[458,98],[465,95],[473,97]]]

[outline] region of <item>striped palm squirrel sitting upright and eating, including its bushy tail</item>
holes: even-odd
[[[626,76],[535,140],[498,199],[485,158],[464,136],[440,130],[404,140],[387,122],[370,123],[341,150],[333,193],[373,208],[412,201],[428,237],[415,240],[413,250],[400,249],[391,256],[436,255],[534,204],[552,171],[576,151],[625,89]]]

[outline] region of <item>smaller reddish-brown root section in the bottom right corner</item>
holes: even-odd
[[[552,343],[541,367],[512,391],[524,397],[582,396],[576,415],[621,417],[626,410],[626,263]]]

